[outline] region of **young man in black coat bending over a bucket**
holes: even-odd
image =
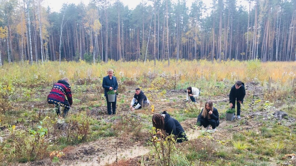
[[[246,90],[244,89],[244,83],[241,81],[237,81],[230,90],[229,93],[229,103],[230,108],[235,108],[235,101],[237,101],[237,118],[242,119],[240,117],[240,106],[244,101],[244,96],[246,95]],[[236,119],[235,115],[233,115],[233,119]]]

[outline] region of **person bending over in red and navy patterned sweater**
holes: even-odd
[[[68,78],[65,77],[54,84],[52,90],[47,96],[47,102],[56,106],[57,115],[61,114],[60,106],[64,107],[63,117],[67,115],[73,103],[71,87]]]

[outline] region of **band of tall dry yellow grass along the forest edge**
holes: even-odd
[[[296,62],[266,62],[260,61],[167,61],[144,62],[120,62],[88,64],[84,61],[47,62],[44,65],[33,64],[5,64],[0,67],[2,81],[20,80],[45,80],[54,82],[62,77],[69,79],[78,78],[102,78],[107,75],[107,69],[113,69],[116,77],[130,77],[140,79],[143,74],[157,73],[158,75],[174,75],[175,71],[181,78],[181,82],[193,82],[204,78],[209,81],[221,81],[223,79],[242,80],[244,82],[273,79],[276,82],[290,82],[295,78]]]

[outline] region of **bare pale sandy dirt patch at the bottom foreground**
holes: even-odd
[[[89,142],[70,150],[63,166],[94,166],[106,165],[120,159],[142,156],[149,152],[148,147],[136,143],[132,147],[126,146],[117,139],[98,140]]]

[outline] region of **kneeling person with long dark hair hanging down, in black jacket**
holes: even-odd
[[[152,116],[152,124],[156,129],[161,129],[168,134],[174,134],[177,137],[177,142],[187,141],[187,136],[181,124],[174,118],[170,117],[166,111],[161,114],[155,113]]]

